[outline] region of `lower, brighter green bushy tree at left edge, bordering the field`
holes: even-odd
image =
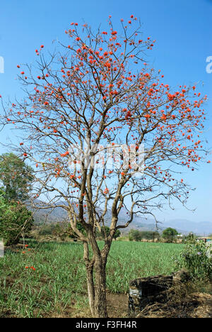
[[[25,205],[8,202],[0,191],[0,237],[5,245],[16,245],[20,237],[28,234],[33,226],[32,212]]]

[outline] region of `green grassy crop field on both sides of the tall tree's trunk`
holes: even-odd
[[[83,245],[33,240],[28,245],[25,253],[6,250],[0,258],[0,317],[48,317],[66,310],[80,316],[88,311]],[[131,279],[173,272],[172,257],[180,250],[182,245],[174,243],[114,241],[107,263],[108,292],[126,293]]]

